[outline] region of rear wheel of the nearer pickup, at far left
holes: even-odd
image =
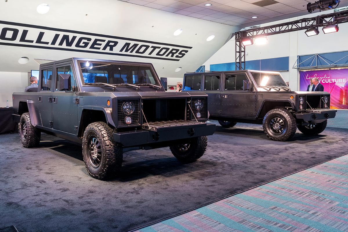
[[[26,148],[39,146],[41,131],[31,124],[29,113],[23,113],[19,120],[19,138]]]

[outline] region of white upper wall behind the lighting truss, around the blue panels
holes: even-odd
[[[322,13],[315,13],[306,15],[306,18],[315,17],[317,15],[329,14],[333,10],[324,11]],[[262,26],[274,25],[283,22],[291,22],[303,17],[296,17],[285,19],[282,21],[262,24]],[[330,53],[335,51],[348,50],[348,23],[339,24],[339,31],[332,34],[324,34],[322,28],[319,28],[319,34],[307,37],[302,31],[295,31],[290,33],[283,33],[268,36],[267,45],[246,46],[245,61],[252,61],[256,59],[268,59],[277,57],[289,57],[289,71],[281,72],[285,81],[289,81],[289,86],[292,90],[298,90],[299,77],[298,71],[292,69],[296,63],[297,56],[308,55],[316,53]],[[230,63],[235,62],[235,40],[231,39],[222,48],[210,57],[205,63],[205,70],[210,70],[211,64]]]

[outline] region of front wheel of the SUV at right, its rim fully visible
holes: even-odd
[[[286,141],[296,133],[296,120],[290,111],[277,108],[264,115],[263,132],[274,141]],[[279,129],[277,129],[279,128]]]

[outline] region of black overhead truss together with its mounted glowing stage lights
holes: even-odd
[[[245,46],[252,45],[258,41],[263,41],[265,43],[265,41],[267,42],[268,35],[306,30],[306,35],[312,36],[319,34],[319,27],[323,27],[322,30],[324,34],[333,33],[338,31],[339,23],[348,22],[347,18],[348,10],[345,10],[312,18],[302,18],[292,22],[236,32],[236,70],[245,70]]]

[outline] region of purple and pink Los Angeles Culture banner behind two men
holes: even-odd
[[[330,108],[348,110],[348,69],[300,71],[300,91],[307,91],[309,79],[315,77],[330,93]]]

